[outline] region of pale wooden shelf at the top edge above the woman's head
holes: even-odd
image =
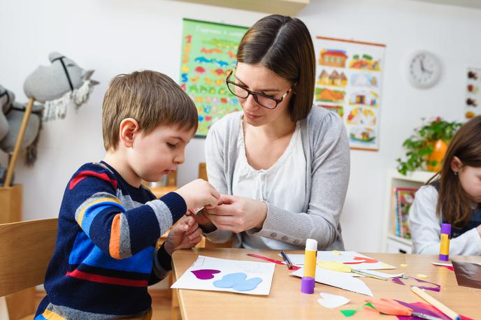
[[[175,0],[192,3],[206,4],[247,11],[263,13],[277,13],[279,15],[295,16],[305,8],[310,0]]]

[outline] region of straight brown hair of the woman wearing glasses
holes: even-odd
[[[293,122],[308,116],[314,98],[315,54],[309,30],[301,20],[284,15],[263,17],[243,36],[237,61],[261,64],[295,84],[289,115]]]

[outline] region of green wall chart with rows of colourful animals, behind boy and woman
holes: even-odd
[[[196,136],[205,137],[210,126],[230,112],[241,110],[225,78],[236,66],[236,52],[246,27],[184,19],[180,87],[199,112]]]

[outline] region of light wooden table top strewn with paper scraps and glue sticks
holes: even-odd
[[[247,253],[261,254],[273,259],[282,260],[275,250],[247,249],[189,249],[178,250],[173,254],[173,276],[178,279],[197,256],[212,256],[222,259],[261,261]],[[290,252],[303,253],[303,252]],[[452,310],[473,319],[481,319],[481,289],[458,286],[454,272],[445,267],[433,266],[431,261],[438,261],[438,256],[417,254],[378,254],[365,253],[366,256],[396,266],[396,270],[385,270],[416,277],[424,274],[426,281],[440,284],[441,291],[427,291],[431,296],[444,303]],[[481,263],[481,256],[453,256],[453,260]],[[401,267],[407,264],[407,267]],[[301,293],[301,279],[289,275],[287,267],[275,266],[271,293],[269,296],[251,296],[238,293],[178,290],[180,313],[184,320],[194,319],[345,319],[340,309],[356,309],[364,303],[368,296],[338,289],[333,286],[316,283],[314,294]],[[361,278],[373,291],[374,298],[394,298],[406,303],[423,301],[410,290],[410,286],[401,286],[392,281],[382,281],[373,278]],[[411,280],[405,280],[411,284]],[[334,293],[345,296],[350,303],[336,309],[327,309],[317,303],[319,293]],[[424,301],[423,301],[424,302]],[[396,319],[392,316],[378,315],[374,312],[361,311],[352,319]]]

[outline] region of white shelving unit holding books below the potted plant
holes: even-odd
[[[425,184],[435,173],[427,171],[415,171],[408,175],[401,175],[395,168],[389,169],[386,178],[384,221],[382,235],[382,251],[388,253],[410,254],[412,241],[393,234],[392,219],[392,190],[394,187],[419,188]]]

